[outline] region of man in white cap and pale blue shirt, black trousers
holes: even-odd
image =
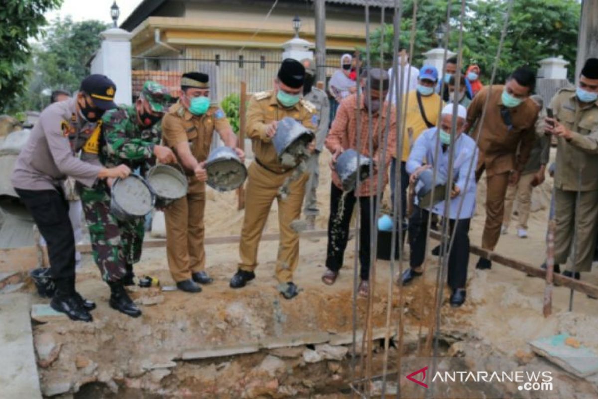
[[[454,145],[454,184],[450,193],[449,232],[451,234],[454,232],[455,235],[449,255],[447,279],[447,283],[453,290],[450,298],[451,306],[461,306],[465,302],[469,264],[469,223],[475,211],[475,165],[477,165],[478,149],[474,139],[463,134],[466,117],[465,107],[457,105],[457,130],[454,142],[451,142],[453,104],[446,105],[441,112],[440,129],[431,127],[422,132],[413,145],[406,165],[407,172],[410,173],[410,182],[416,182],[418,195],[422,192],[425,193],[431,187],[422,187],[424,179],[420,178],[423,177],[420,174],[425,173],[429,177],[432,168],[436,167],[436,184],[444,184],[449,175],[450,146]],[[424,165],[424,162],[427,163]],[[473,167],[470,168],[471,165]],[[433,201],[432,204],[434,204]],[[444,207],[445,203],[441,201],[430,208],[423,208],[420,207],[416,198],[415,210],[409,220],[410,267],[402,274],[399,283],[408,284],[413,278],[423,273],[422,264],[425,259],[428,217],[430,213],[443,217]],[[455,224],[457,225],[456,229],[454,228]]]

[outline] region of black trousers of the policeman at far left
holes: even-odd
[[[69,219],[69,203],[62,187],[56,190],[16,188],[48,246],[54,280],[75,278],[75,239]]]

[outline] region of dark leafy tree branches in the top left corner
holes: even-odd
[[[0,113],[25,90],[28,39],[42,33],[44,14],[60,7],[62,0],[2,0],[0,7]]]

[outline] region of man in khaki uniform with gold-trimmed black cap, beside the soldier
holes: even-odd
[[[164,211],[168,266],[179,290],[199,293],[197,284],[209,284],[212,278],[205,272],[206,251],[203,246],[206,208],[206,179],[203,167],[208,158],[214,130],[228,147],[243,159],[236,148],[237,138],[224,111],[210,103],[209,77],[201,72],[184,74],[181,98],[171,106],[162,121],[164,145],[171,147],[186,171],[189,190]]]

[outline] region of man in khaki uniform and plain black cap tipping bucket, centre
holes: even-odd
[[[315,130],[315,106],[301,98],[305,68],[300,62],[285,59],[280,65],[274,90],[255,94],[247,110],[247,136],[252,139],[255,161],[248,170],[245,218],[239,245],[239,270],[230,281],[231,288],[245,287],[255,278],[260,237],[266,225],[270,206],[278,200],[280,244],[276,260],[276,279],[279,291],[286,299],[296,296],[297,286],[292,275],[299,260],[299,236],[291,229],[291,222],[301,216],[305,184],[309,175],[303,173],[288,186],[288,196],[282,198],[278,190],[294,172],[294,167],[283,166],[276,154],[272,138],[279,120],[291,117],[308,129]],[[312,151],[315,142],[312,142]]]

